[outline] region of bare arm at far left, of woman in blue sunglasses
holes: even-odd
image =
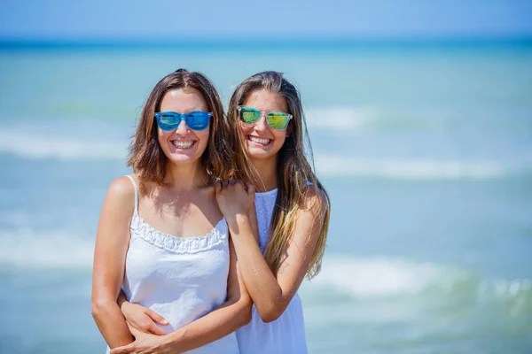
[[[127,177],[111,183],[98,222],[92,273],[92,317],[110,348],[133,342],[117,297],[129,247],[135,190]]]

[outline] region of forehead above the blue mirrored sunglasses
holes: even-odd
[[[187,113],[208,111],[207,102],[197,89],[171,89],[160,102],[160,111]]]

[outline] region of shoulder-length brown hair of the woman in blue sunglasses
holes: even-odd
[[[223,140],[223,136],[227,135],[227,126],[223,120],[222,100],[213,83],[205,75],[185,69],[176,70],[162,78],[146,99],[137,130],[129,145],[127,165],[138,174],[141,183],[153,181],[158,185],[164,184],[168,158],[160,148],[154,114],[160,112],[162,98],[172,89],[197,89],[207,102],[212,118],[201,165],[207,173],[209,183],[226,178],[231,165]]]

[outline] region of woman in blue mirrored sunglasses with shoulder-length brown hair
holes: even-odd
[[[251,300],[215,199],[230,171],[226,134],[220,97],[200,73],[170,73],[148,96],[134,174],[111,183],[98,223],[92,313],[112,353],[239,353],[234,331],[251,319]],[[124,306],[168,320],[153,325],[157,335],[126,322],[121,289]]]

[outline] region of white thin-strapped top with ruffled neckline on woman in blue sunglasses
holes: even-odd
[[[122,289],[128,301],[168,320],[167,333],[199,319],[223,304],[229,274],[229,228],[225,219],[207,235],[178,237],[157,231],[138,214],[138,189],[131,219]],[[235,333],[189,350],[193,354],[236,354]]]

